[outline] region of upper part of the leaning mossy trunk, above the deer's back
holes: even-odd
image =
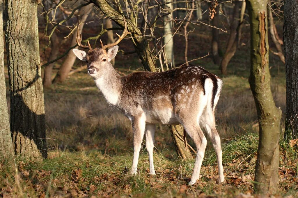
[[[113,20],[119,26],[124,27],[123,15],[111,7],[106,0],[90,0],[94,3],[108,18]],[[156,61],[151,53],[146,37],[141,37],[142,32],[130,19],[126,19],[128,31],[132,33],[132,42],[142,61],[144,69],[147,71],[156,71]]]

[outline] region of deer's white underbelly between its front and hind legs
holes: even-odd
[[[172,109],[162,109],[158,111],[145,111],[146,123],[151,124],[179,124]]]

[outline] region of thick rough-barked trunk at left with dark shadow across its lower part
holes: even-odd
[[[5,5],[10,130],[16,155],[33,161],[47,157],[37,5],[31,0]]]

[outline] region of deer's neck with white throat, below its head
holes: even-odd
[[[105,74],[94,81],[108,103],[117,105],[122,85],[120,76],[117,74],[114,67],[110,64]]]

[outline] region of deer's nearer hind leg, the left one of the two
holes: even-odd
[[[205,149],[207,146],[207,139],[198,123],[198,118],[202,114],[202,110],[198,112],[184,111],[187,115],[180,115],[179,119],[187,134],[193,139],[196,149],[197,156],[195,158],[195,167],[193,169],[193,175],[189,182],[189,185],[193,185],[197,179],[200,177],[200,170],[204,158]]]

